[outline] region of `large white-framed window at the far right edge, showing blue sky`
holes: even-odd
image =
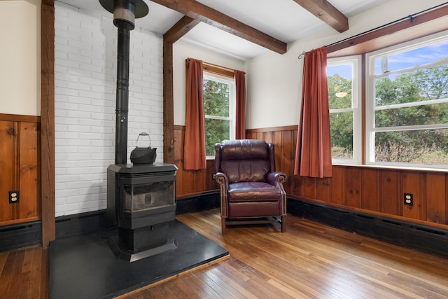
[[[367,55],[367,163],[448,164],[448,36]]]

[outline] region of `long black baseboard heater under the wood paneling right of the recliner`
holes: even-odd
[[[288,198],[287,211],[358,235],[448,257],[448,230],[293,198]]]

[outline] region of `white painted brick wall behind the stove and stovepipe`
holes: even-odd
[[[140,132],[150,134],[163,161],[162,41],[137,27],[130,32],[128,162]],[[106,209],[106,169],[115,162],[116,42],[112,14],[55,1],[56,216]]]

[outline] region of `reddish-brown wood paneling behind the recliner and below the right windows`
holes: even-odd
[[[175,132],[177,195],[216,190],[214,161],[198,172],[182,169],[184,127]],[[297,126],[247,130],[246,138],[275,144],[276,169],[288,175],[288,197],[448,228],[448,172],[334,165],[331,178],[294,176]],[[404,204],[404,193],[414,195],[412,207]]]

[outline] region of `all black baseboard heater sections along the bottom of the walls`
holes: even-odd
[[[384,242],[448,258],[448,230],[393,218],[359,213],[288,198],[288,214],[356,232]],[[183,197],[177,201],[176,214],[219,207],[219,194]],[[106,210],[56,218],[56,237],[94,232],[106,227]],[[0,227],[0,251],[42,243],[41,221]]]

